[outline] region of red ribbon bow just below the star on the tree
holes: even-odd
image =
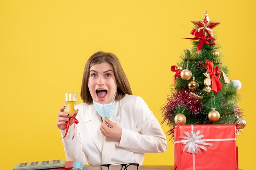
[[[195,28],[193,28],[193,30],[191,31],[192,35],[195,35],[194,38],[186,38],[186,39],[200,39],[199,43],[198,43],[198,48],[197,48],[197,52],[199,50],[201,50],[202,46],[206,43],[209,46],[214,46],[216,44],[216,40],[213,37],[207,38],[205,36],[202,35],[202,33],[199,33]],[[210,40],[213,40],[213,43],[210,43]]]

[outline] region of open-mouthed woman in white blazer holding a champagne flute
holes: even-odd
[[[83,103],[76,106],[74,139],[63,138],[67,160],[89,165],[139,163],[144,153],[162,153],[166,137],[146,103],[132,96],[129,82],[117,57],[97,52],[85,64],[81,87]],[[57,126],[65,134],[65,106]]]

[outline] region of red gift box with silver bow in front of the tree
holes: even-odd
[[[236,126],[174,126],[174,169],[238,170]]]

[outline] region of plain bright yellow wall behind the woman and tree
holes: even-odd
[[[191,21],[202,20],[206,11],[221,22],[213,31],[229,78],[242,82],[239,107],[247,126],[237,140],[239,167],[256,169],[255,7],[253,0],[1,0],[0,169],[65,159],[58,109],[64,92],[80,94],[85,62],[99,50],[119,57],[133,94],[161,122],[171,65],[191,48],[191,40],[182,38],[193,37]],[[173,143],[165,153],[146,154],[144,165],[173,165]]]

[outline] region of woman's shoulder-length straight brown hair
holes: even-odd
[[[117,94],[115,96],[115,100],[120,100],[125,96],[125,94],[132,95],[132,90],[130,88],[130,84],[128,79],[124,73],[124,70],[119,62],[119,59],[110,52],[96,52],[93,54],[85,64],[84,72],[83,72],[83,80],[81,87],[81,98],[83,102],[90,105],[92,103],[92,96],[88,87],[88,80],[90,76],[90,68],[92,65],[100,64],[100,63],[109,63],[114,72],[115,79],[117,81]]]

